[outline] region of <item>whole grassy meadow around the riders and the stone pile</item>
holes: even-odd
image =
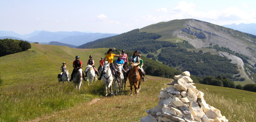
[[[0,91],[0,122],[80,122],[140,121],[158,104],[160,89],[172,79],[146,76],[138,95],[130,96],[129,83],[123,93],[112,97],[105,94],[103,82],[88,86],[85,81],[80,91],[72,83],[58,85],[57,74],[62,62],[72,72],[72,62],[80,56],[83,66],[93,55],[96,66],[107,48],[74,49],[65,46],[31,44],[25,52],[0,57],[3,85]],[[44,54],[46,52],[46,54]],[[10,63],[9,63],[10,62]],[[11,65],[10,65],[11,64]],[[244,90],[195,84],[205,93],[209,105],[220,109],[230,122],[254,122],[256,93]]]

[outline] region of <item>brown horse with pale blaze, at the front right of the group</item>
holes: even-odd
[[[139,69],[139,64],[132,63],[132,68],[130,69],[128,74],[128,79],[131,86],[131,96],[132,96],[132,85],[134,85],[135,94],[138,94],[140,92],[141,76],[138,69]]]

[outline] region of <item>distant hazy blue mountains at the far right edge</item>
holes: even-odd
[[[234,24],[230,24],[230,25],[227,24],[222,26],[226,28],[231,28],[234,30],[239,30],[241,32],[256,35],[256,23],[250,23],[250,24],[240,23],[238,25],[234,23]]]

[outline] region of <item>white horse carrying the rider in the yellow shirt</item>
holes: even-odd
[[[103,83],[105,86],[105,91],[106,91],[106,95],[105,97],[107,97],[107,91],[109,92],[109,94],[113,95],[112,92],[112,82],[113,79],[115,78],[115,76],[112,75],[111,69],[110,69],[110,64],[108,61],[105,61],[103,64],[104,70],[103,70]],[[111,88],[111,92],[110,89]]]

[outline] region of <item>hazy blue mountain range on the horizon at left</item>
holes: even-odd
[[[86,33],[86,32],[48,32],[45,30],[35,30],[30,34],[20,35],[13,31],[0,31],[0,37],[9,37],[11,39],[23,39],[30,42],[48,43],[48,42],[60,42],[71,45],[81,45],[87,42],[94,41],[96,39],[115,36],[114,33]],[[57,44],[57,43],[55,43]]]

